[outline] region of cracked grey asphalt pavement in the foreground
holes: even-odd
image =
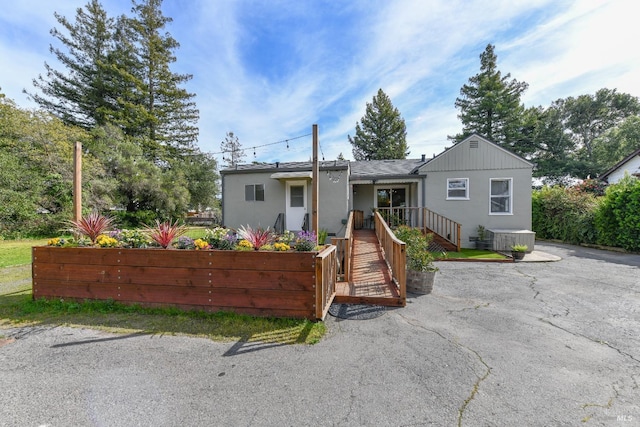
[[[640,426],[640,256],[536,249],[314,346],[0,329],[0,426]]]

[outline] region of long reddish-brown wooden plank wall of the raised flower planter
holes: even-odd
[[[335,246],[320,252],[34,247],[33,298],[114,300],[323,319]]]

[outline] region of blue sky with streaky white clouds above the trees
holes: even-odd
[[[33,108],[26,88],[44,73],[59,27],[86,1],[13,0],[0,11],[0,88]],[[129,0],[103,0],[116,16]],[[491,6],[487,6],[491,4]],[[503,73],[529,84],[525,106],[607,87],[640,96],[640,26],[631,1],[164,0],[180,43],[173,70],[193,74],[203,151],[234,132],[250,161],[304,161],[319,125],[324,158],[353,158],[347,135],[378,88],[405,119],[410,157],[440,153],[461,130],[454,107],[496,46]],[[270,144],[270,145],[267,145]],[[264,147],[260,147],[267,145]],[[257,147],[257,148],[253,148]],[[254,156],[255,151],[255,156]],[[221,155],[216,154],[219,159]]]

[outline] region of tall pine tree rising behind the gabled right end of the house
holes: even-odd
[[[460,110],[462,133],[450,138],[460,142],[472,133],[479,133],[518,152],[524,114],[520,96],[528,84],[509,80],[511,74],[502,76],[494,50],[493,45],[487,45],[480,55],[480,73],[460,89],[455,106]]]

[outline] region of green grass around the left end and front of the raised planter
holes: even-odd
[[[195,237],[204,236],[204,228],[193,231]],[[47,240],[0,241],[0,337],[3,328],[65,325],[115,333],[189,335],[215,341],[315,344],[326,332],[323,322],[308,320],[149,309],[113,301],[33,301],[31,247],[46,245]]]

